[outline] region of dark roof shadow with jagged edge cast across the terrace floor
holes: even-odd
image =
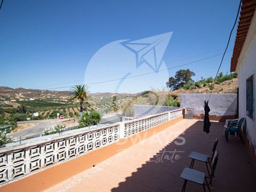
[[[248,153],[246,146],[235,137],[230,135],[228,143],[224,140],[223,125],[212,123],[210,133],[202,131],[203,122],[196,120],[183,120],[183,122],[193,123],[181,135],[186,139],[184,145],[176,145],[170,142],[161,151],[159,151],[150,161],[147,161],[136,172],[126,178],[125,182],[119,183],[112,192],[130,192],[130,191],[168,191],[180,192],[184,180],[180,174],[184,167],[190,166],[188,156],[192,151],[205,154],[211,154],[215,138],[219,139],[217,151],[219,161],[216,169],[216,180],[213,180],[214,192],[256,192],[256,166],[252,156]],[[180,139],[176,139],[181,142]],[[168,151],[184,151],[179,154],[180,159],[175,157],[167,160],[166,155],[171,156]],[[162,157],[161,162],[158,162]],[[132,162],[131,162],[132,163]],[[202,162],[196,161],[194,169],[207,172],[206,166]],[[201,192],[202,186],[188,182],[186,191]]]

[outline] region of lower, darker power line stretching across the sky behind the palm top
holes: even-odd
[[[233,51],[233,50],[229,50],[229,51],[226,51],[226,52],[230,52],[230,51]],[[217,56],[222,55],[222,54],[223,53],[219,53],[219,54],[216,54],[216,55],[213,55],[213,56],[210,56],[210,57],[206,57],[206,58],[203,58],[203,59],[200,59],[200,60],[196,60],[196,61],[193,61],[193,62],[190,62],[190,63],[180,64],[180,65],[177,65],[177,66],[169,67],[169,68],[166,68],[166,69],[161,69],[161,70],[154,71],[154,72],[143,73],[143,74],[139,74],[139,75],[133,75],[133,76],[125,77],[125,78],[110,79],[110,80],[106,80],[106,81],[99,81],[99,82],[94,82],[94,83],[88,83],[87,85],[94,85],[94,84],[99,84],[99,83],[107,83],[107,82],[112,82],[112,81],[118,81],[118,80],[123,80],[123,79],[129,79],[129,78],[144,76],[144,75],[148,75],[148,74],[152,74],[152,73],[156,73],[156,72],[161,72],[161,71],[170,70],[170,69],[173,69],[173,68],[185,66],[185,65],[188,65],[188,64],[194,64],[194,63],[201,62],[201,61],[204,61],[204,60],[207,60],[207,59],[210,59],[210,58],[217,57]],[[75,85],[73,85],[73,86],[75,86]],[[70,88],[70,87],[73,87],[73,86],[55,87],[55,88],[49,88],[47,90]],[[47,90],[41,90],[41,91],[47,91]],[[10,92],[0,92],[0,94],[11,93],[11,92],[12,91],[10,91]],[[28,92],[28,91],[20,91],[20,93],[22,93],[22,92]]]

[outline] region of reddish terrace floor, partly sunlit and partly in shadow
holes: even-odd
[[[234,135],[226,143],[222,124],[212,123],[209,134],[202,131],[202,126],[202,121],[182,120],[46,192],[180,192],[184,181],[180,174],[190,166],[188,156],[192,151],[210,154],[216,137],[219,161],[212,191],[256,192],[256,165],[246,146]],[[186,139],[185,144],[175,144],[182,142],[178,135]],[[172,156],[169,152],[175,150]],[[168,159],[164,159],[166,155]],[[194,169],[206,172],[201,162],[195,162]],[[203,189],[188,182],[186,191]]]

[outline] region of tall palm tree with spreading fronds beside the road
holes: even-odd
[[[71,89],[72,97],[67,100],[67,103],[79,101],[80,112],[83,112],[84,101],[89,100],[89,87],[87,85],[76,85]]]

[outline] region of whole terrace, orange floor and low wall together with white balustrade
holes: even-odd
[[[164,112],[89,132],[63,135],[44,143],[27,144],[22,146],[25,162],[21,160],[22,155],[13,155],[21,154],[22,149],[8,149],[7,160],[12,160],[6,166],[3,165],[5,159],[1,161],[1,179],[5,182],[0,190],[177,192],[183,185],[180,174],[190,165],[189,154],[192,151],[210,154],[217,137],[219,162],[214,191],[255,192],[256,164],[247,145],[233,135],[226,143],[221,123],[212,122],[210,133],[206,134],[202,131],[202,121],[183,119],[181,112]],[[102,146],[103,131],[110,129],[113,132],[107,135],[112,140]],[[91,140],[90,135],[94,137]],[[100,142],[97,144],[97,141]],[[196,162],[194,168],[206,172],[204,163]],[[186,189],[202,191],[201,186],[191,182]]]

